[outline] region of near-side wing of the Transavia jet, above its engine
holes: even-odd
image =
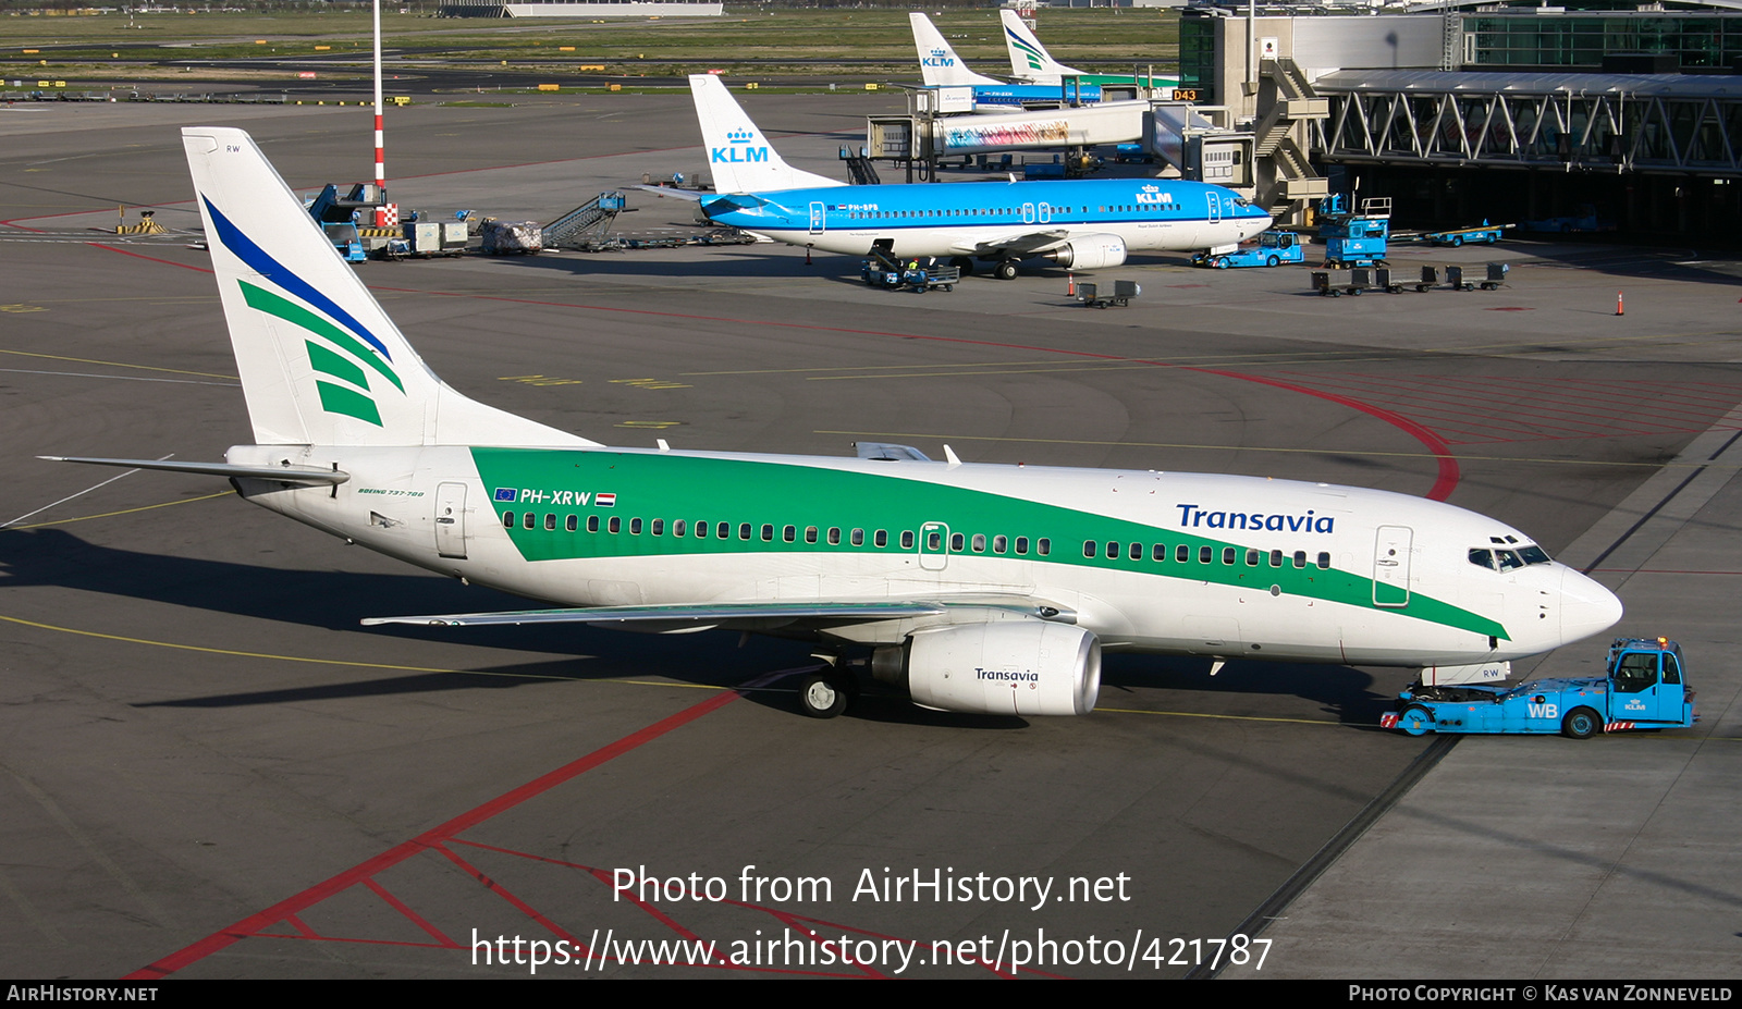
[[[678,603],[664,606],[589,606],[577,610],[510,610],[502,613],[432,613],[423,617],[368,617],[380,624],[427,624],[437,627],[490,627],[502,624],[678,624],[688,629],[716,627],[742,620],[862,624],[937,617],[949,610],[1003,610],[1043,620],[1075,622],[1077,613],[1028,596],[946,596],[939,599],[873,599],[789,603]]]

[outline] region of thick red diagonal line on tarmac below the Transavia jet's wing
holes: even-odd
[[[321,884],[315,884],[314,887],[308,887],[307,890],[293,897],[279,901],[277,904],[272,904],[263,911],[253,913],[226,929],[219,929],[190,946],[185,946],[153,964],[148,964],[134,971],[132,974],[127,974],[127,979],[153,981],[159,978],[167,978],[169,974],[174,974],[176,971],[190,964],[197,964],[206,957],[211,957],[213,953],[230,948],[239,939],[260,934],[261,929],[275,925],[286,920],[289,915],[303,911],[331,897],[340,890],[345,890],[383,870],[397,866],[399,863],[409,859],[411,856],[416,856],[429,849],[441,847],[441,842],[451,838],[460,831],[470,830],[491,819],[496,814],[507,812],[516,805],[563,784],[564,781],[582,775],[599,767],[601,763],[611,762],[639,746],[645,746],[658,739],[660,735],[672,732],[674,728],[681,728],[695,721],[697,718],[702,718],[704,714],[711,714],[712,711],[725,708],[726,704],[732,704],[739,697],[742,697],[742,694],[739,694],[737,690],[723,690],[709,697],[707,701],[702,701],[700,704],[692,704],[690,708],[685,708],[676,714],[662,718],[653,725],[648,725],[646,728],[631,732],[629,735],[618,739],[617,742],[601,746],[599,749],[594,749],[592,753],[582,756],[580,760],[564,763],[563,767],[542,777],[537,777],[512,791],[507,791],[476,809],[470,809],[434,830],[423,831],[422,835],[408,842],[394,845],[392,849],[375,856],[373,859],[359,863],[338,873],[336,877],[331,877]]]

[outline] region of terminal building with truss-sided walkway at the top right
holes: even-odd
[[[1251,124],[1284,216],[1336,190],[1413,225],[1739,234],[1742,10],[1467,7],[1195,3],[1178,98]]]

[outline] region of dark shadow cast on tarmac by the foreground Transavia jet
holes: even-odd
[[[145,702],[141,708],[235,708],[291,704],[315,699],[427,694],[446,690],[500,690],[573,680],[664,676],[678,683],[732,687],[772,669],[815,666],[810,645],[766,636],[740,641],[735,631],[700,634],[636,634],[584,626],[526,627],[418,627],[383,626],[364,629],[361,617],[387,613],[442,613],[517,610],[526,601],[491,589],[465,587],[453,579],[416,572],[364,573],[341,570],[282,570],[233,561],[178,558],[92,544],[64,530],[0,532],[0,587],[21,591],[57,587],[80,593],[125,596],[195,612],[230,613],[277,624],[303,624],[373,640],[446,641],[456,647],[544,653],[552,659],[476,666],[448,671],[408,671],[341,683],[239,690],[204,697]],[[383,599],[387,603],[383,603]],[[92,608],[96,612],[96,608]],[[192,624],[199,624],[195,617]],[[78,627],[99,631],[99,627]],[[214,631],[223,634],[225,631]],[[165,634],[167,636],[167,634]],[[235,640],[178,640],[181,645],[267,650]],[[312,655],[310,655],[312,657]],[[348,660],[368,660],[350,655]],[[394,655],[383,664],[432,664]],[[463,660],[456,660],[463,662]],[[1279,699],[1303,697],[1319,711],[1343,723],[1374,725],[1388,695],[1373,692],[1373,676],[1343,666],[1280,662],[1230,662],[1209,676],[1207,659],[1165,655],[1108,655],[1103,669],[1101,706],[1144,709],[1202,709],[1202,699],[1221,695],[1221,714],[1279,714]],[[768,690],[746,697],[784,711],[798,711],[793,681],[775,681]],[[1178,692],[1171,701],[1155,692]],[[1143,697],[1138,697],[1138,695]],[[1298,709],[1298,706],[1296,706]],[[958,728],[1021,728],[1023,718],[927,711],[894,692],[871,687],[848,718]]]

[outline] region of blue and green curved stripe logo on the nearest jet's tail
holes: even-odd
[[[385,378],[401,396],[406,392],[404,382],[394,373],[387,345],[341,305],[256,246],[211,200],[206,200],[206,209],[211,211],[213,223],[218,227],[218,239],[226,249],[235,253],[256,274],[277,284],[279,289],[298,298],[291,300],[258,284],[237,281],[242,289],[242,300],[247,301],[249,308],[289,322],[308,333],[308,336],[314,336],[314,340],[303,340],[303,349],[308,352],[308,366],[319,375],[334,380],[315,378],[321,408],[327,413],[354,416],[381,427],[381,411],[371,396],[369,371]]]

